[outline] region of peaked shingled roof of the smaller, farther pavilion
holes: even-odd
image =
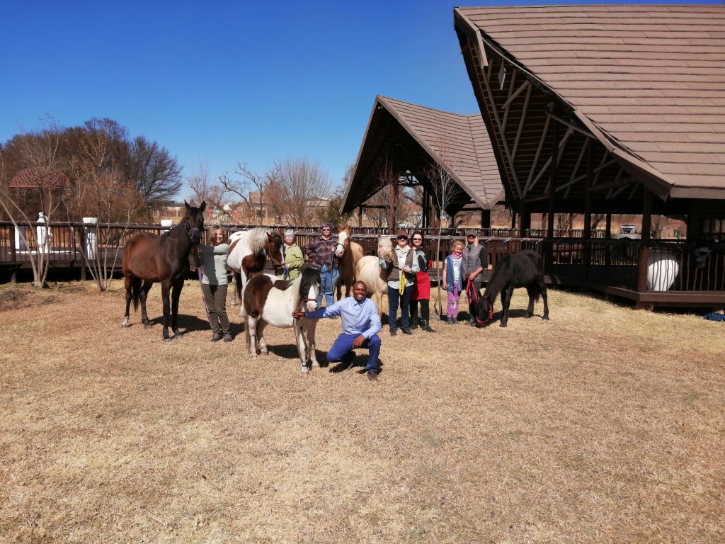
[[[436,162],[481,209],[489,209],[503,196],[501,176],[481,115],[443,112],[378,95],[345,192],[342,213],[364,203],[380,189],[375,169],[386,158],[423,183],[426,168]]]

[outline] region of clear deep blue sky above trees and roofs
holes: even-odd
[[[453,7],[494,4],[514,3],[4,1],[0,141],[45,118],[107,117],[185,176],[200,161],[216,177],[305,156],[337,185],[376,94],[477,111]]]

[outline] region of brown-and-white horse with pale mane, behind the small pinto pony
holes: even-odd
[[[264,270],[267,257],[275,266],[284,265],[282,236],[278,231],[257,227],[249,231],[233,232],[229,236],[227,266],[234,272],[234,293],[239,300],[249,276]],[[241,305],[239,315],[244,319],[244,304]]]

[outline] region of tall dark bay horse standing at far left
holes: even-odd
[[[174,337],[179,336],[178,309],[179,297],[183,282],[188,278],[188,255],[191,247],[199,244],[202,229],[204,228],[204,208],[207,203],[202,202],[199,207],[189,206],[184,201],[186,213],[181,222],[166,231],[161,236],[141,232],[126,242],[123,248],[123,284],[126,289],[126,313],[121,326],[125,329],[128,324],[128,313],[131,300],[133,310],[138,310],[138,301],[141,300],[141,322],[146,329],[151,328],[149,315],[146,313],[146,296],[155,281],[161,282],[161,297],[164,302],[164,329],[163,339],[169,337],[169,311],[171,312],[171,330]],[[141,287],[141,281],[144,282]],[[169,303],[169,291],[171,302]]]

